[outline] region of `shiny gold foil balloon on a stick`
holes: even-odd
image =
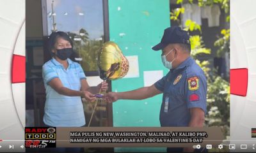
[[[113,41],[103,44],[98,55],[98,66],[102,80],[116,80],[124,77],[129,70],[129,62]]]

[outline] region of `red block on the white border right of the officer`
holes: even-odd
[[[246,96],[248,86],[248,69],[230,69],[230,94]]]

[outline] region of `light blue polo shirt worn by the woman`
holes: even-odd
[[[59,94],[48,84],[53,78],[60,78],[64,87],[74,91],[81,90],[81,79],[86,79],[81,65],[68,61],[65,69],[60,62],[52,58],[43,66],[43,79],[46,92],[44,123],[54,127],[84,126],[84,109],[81,97]]]

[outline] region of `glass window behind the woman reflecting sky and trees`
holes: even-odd
[[[104,26],[102,0],[47,0],[48,34],[68,33],[74,43],[73,60],[84,71],[97,71],[97,54],[102,47]]]

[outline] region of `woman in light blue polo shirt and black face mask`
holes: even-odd
[[[106,91],[108,84],[89,87],[83,69],[68,57],[73,43],[68,34],[58,31],[49,37],[52,59],[43,66],[46,92],[44,124],[54,127],[79,127],[85,125],[81,97],[95,101],[93,94]]]

